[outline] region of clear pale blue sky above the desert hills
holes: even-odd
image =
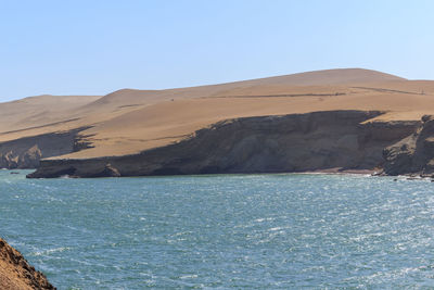
[[[431,0],[0,0],[0,101],[337,67],[434,79]]]

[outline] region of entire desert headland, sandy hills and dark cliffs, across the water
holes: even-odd
[[[432,175],[433,96],[432,80],[341,68],[191,88],[30,97],[0,103],[0,167],[37,168],[30,178]]]

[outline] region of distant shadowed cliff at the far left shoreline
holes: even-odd
[[[78,134],[88,127],[0,142],[0,168],[37,168],[39,160],[89,148]]]

